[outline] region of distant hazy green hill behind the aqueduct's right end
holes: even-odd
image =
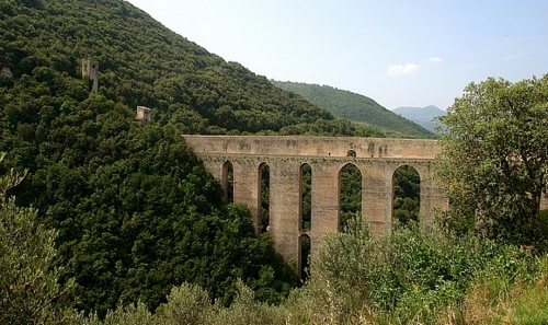
[[[429,130],[393,114],[369,97],[329,85],[288,81],[272,81],[272,83],[304,96],[310,103],[328,109],[335,117],[375,126],[388,137],[435,138]]]

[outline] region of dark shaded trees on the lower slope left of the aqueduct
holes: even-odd
[[[140,126],[103,95],[28,95],[62,80],[8,90],[0,142],[8,166],[30,166],[12,190],[18,202],[58,230],[60,280],[75,279],[60,304],[103,317],[121,300],[153,310],[185,281],[227,304],[237,278],[272,303],[298,285],[270,239],[255,236],[249,211],[222,202],[176,125]]]

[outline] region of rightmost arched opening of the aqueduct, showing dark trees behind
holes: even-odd
[[[411,220],[419,221],[421,177],[416,170],[409,165],[397,169],[392,177],[392,188],[393,220],[404,225]]]

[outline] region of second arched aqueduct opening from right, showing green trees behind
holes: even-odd
[[[362,172],[346,164],[339,174],[339,229],[344,231],[350,220],[362,220]]]

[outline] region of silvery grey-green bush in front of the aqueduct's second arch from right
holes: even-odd
[[[343,233],[323,239],[312,260],[310,283],[300,293],[311,299],[306,323],[345,324],[372,301],[375,241],[368,225],[358,220],[349,221]]]

